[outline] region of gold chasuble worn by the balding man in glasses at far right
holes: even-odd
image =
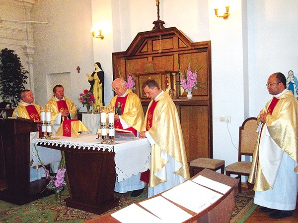
[[[269,172],[271,176],[277,175],[277,171],[273,171],[271,167],[262,166],[260,159],[262,156],[260,150],[260,144],[262,135],[266,134],[264,129],[267,127],[270,137],[277,144],[277,146],[283,150],[289,157],[294,161],[298,162],[298,100],[295,99],[292,91],[287,91],[286,93],[279,96],[277,99],[273,98],[270,100],[266,107],[260,111],[260,113],[267,113],[266,123],[262,124],[259,136],[257,139],[256,147],[253,153],[252,167],[248,182],[254,183],[253,190],[255,191],[265,191],[273,188],[273,185],[269,184],[268,179],[264,175],[264,170]],[[258,122],[259,122],[258,115]],[[265,126],[266,125],[266,126]],[[263,143],[263,147],[267,146]],[[270,150],[270,146],[268,146]],[[274,156],[270,156],[274,158]],[[268,157],[267,159],[270,159]],[[272,165],[276,165],[274,160],[271,162]],[[270,168],[270,169],[268,169]],[[278,170],[279,168],[277,168]],[[298,167],[294,169],[298,173]]]

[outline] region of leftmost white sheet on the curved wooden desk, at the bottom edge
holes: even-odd
[[[136,204],[131,204],[126,208],[120,209],[111,214],[111,216],[121,223],[162,223],[156,216]]]

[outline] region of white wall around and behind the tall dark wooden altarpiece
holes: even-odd
[[[166,28],[177,27],[193,42],[211,40],[214,158],[228,165],[237,161],[232,142],[238,147],[239,126],[270,99],[265,86],[268,76],[278,71],[287,74],[290,69],[298,76],[298,4],[295,0],[229,0],[230,16],[224,20],[214,14],[218,2],[161,0],[160,19]],[[93,71],[96,61],[105,71],[109,103],[112,53],[125,51],[139,32],[151,30],[156,12],[153,0],[39,0],[32,20],[48,25],[34,26],[37,103],[48,100],[44,76],[60,72],[71,73],[72,89],[66,89],[66,95],[75,101],[89,87],[85,73]],[[103,40],[92,38],[93,26],[103,30]],[[78,65],[80,74],[75,70]],[[226,115],[231,116],[228,124],[219,120]]]

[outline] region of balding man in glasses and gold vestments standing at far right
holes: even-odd
[[[286,78],[274,73],[267,89],[273,95],[258,115],[259,136],[248,181],[254,203],[270,218],[282,219],[296,208],[298,190],[298,100],[286,89]]]

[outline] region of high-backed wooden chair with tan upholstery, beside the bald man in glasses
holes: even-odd
[[[226,175],[238,175],[236,178],[239,178],[239,193],[242,191],[241,176],[249,176],[251,167],[251,162],[242,161],[241,158],[242,156],[252,156],[258,137],[257,127],[256,117],[249,117],[244,120],[242,126],[239,127],[238,162],[225,167]]]

